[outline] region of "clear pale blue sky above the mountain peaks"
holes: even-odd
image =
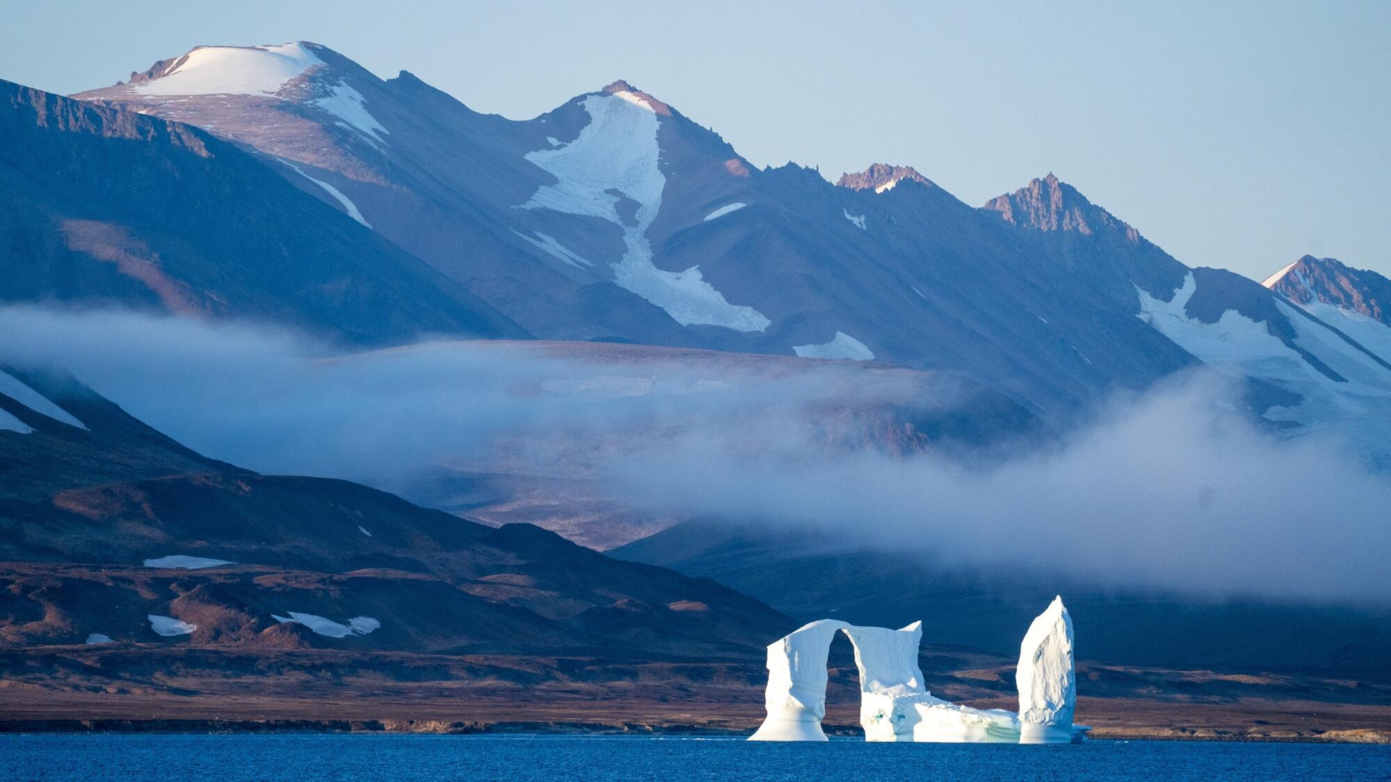
[[[1054,171],[1191,266],[1391,276],[1391,1],[0,0],[0,78],[70,93],[314,40],[533,117],[625,78],[751,161],[911,164],[979,205]]]

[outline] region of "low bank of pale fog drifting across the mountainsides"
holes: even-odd
[[[0,360],[63,366],[189,447],[267,473],[396,491],[451,465],[580,476],[654,513],[811,526],[1000,572],[1387,600],[1391,480],[1338,442],[1256,431],[1210,377],[1116,402],[1064,447],[964,468],[828,448],[805,404],[864,392],[842,365],[615,367],[458,342],[332,356],[245,324],[26,306],[0,308]],[[883,383],[874,392],[911,391]]]

